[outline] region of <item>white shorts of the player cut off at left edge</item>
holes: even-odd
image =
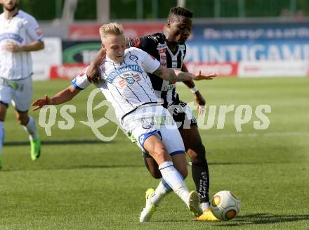
[[[32,77],[20,80],[0,78],[0,102],[8,106],[12,102],[19,112],[29,110],[32,102]]]

